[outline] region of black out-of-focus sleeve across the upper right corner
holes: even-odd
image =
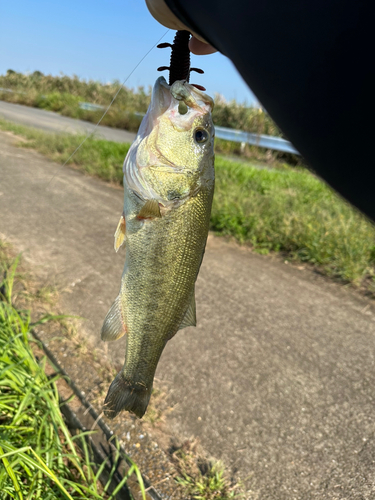
[[[307,163],[375,219],[375,16],[370,2],[166,4],[233,61]]]

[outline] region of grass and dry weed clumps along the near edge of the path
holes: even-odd
[[[71,321],[65,316],[53,315],[52,311],[58,307],[56,290],[40,285],[22,259],[14,258],[12,249],[0,240],[0,498],[112,500],[132,473],[135,473],[131,480],[132,491],[136,492],[134,497],[145,498],[146,490],[134,462],[122,483],[110,494],[109,479],[123,468],[121,459],[112,455],[106,484],[103,484],[99,481],[103,466],[92,462],[87,441],[95,431],[72,435],[65,423],[60,412],[61,398],[64,395],[70,404],[71,391],[55,374],[30,330],[38,324],[47,328],[48,347],[55,354],[61,352],[62,346],[67,352],[67,340],[76,343],[77,339],[74,342],[72,338]],[[87,352],[78,345],[74,349],[76,352],[79,349],[81,363],[87,363]],[[95,364],[95,357],[90,357],[91,365]],[[105,374],[98,371],[98,376],[105,376],[104,386],[108,387],[113,367],[111,370],[102,359],[99,366]],[[79,378],[74,381],[79,384]],[[164,420],[165,411],[170,411],[166,394],[160,389],[155,392],[144,419],[152,428]],[[98,401],[95,394],[95,387],[91,387],[90,399],[94,406],[103,400],[103,395]],[[76,408],[74,402],[71,408]],[[243,498],[242,484],[231,477],[224,464],[208,459],[197,440],[172,444],[165,451],[172,465],[168,473],[173,471],[177,498]]]

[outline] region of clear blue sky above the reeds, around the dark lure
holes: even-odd
[[[0,74],[11,68],[123,81],[165,32],[144,0],[2,2]],[[163,41],[173,37],[169,31]],[[152,85],[160,75],[156,68],[168,65],[169,53],[155,48],[126,85]],[[205,71],[194,73],[192,82],[205,86],[209,94],[254,103],[253,94],[223,55],[192,56],[192,65]]]

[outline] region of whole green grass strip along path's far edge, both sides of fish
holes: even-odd
[[[22,146],[64,162],[81,141],[0,121],[0,128],[26,137]],[[72,159],[85,172],[121,184],[129,145],[87,140]],[[211,229],[259,253],[288,258],[375,293],[375,228],[306,169],[259,169],[216,158]]]

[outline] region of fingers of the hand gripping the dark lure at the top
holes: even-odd
[[[173,30],[187,30],[193,35],[189,42],[190,52],[203,56],[213,54],[217,50],[206,42],[201,36],[192,32],[169,9],[164,0],[146,0],[146,5],[151,15],[163,26]]]

